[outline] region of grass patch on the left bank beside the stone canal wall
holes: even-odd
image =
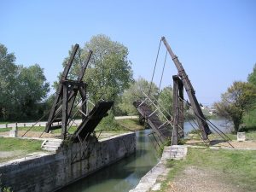
[[[8,157],[0,155],[0,162],[13,160],[26,154],[41,151],[41,144],[42,141],[38,140],[0,137],[0,151],[13,152],[13,154]]]

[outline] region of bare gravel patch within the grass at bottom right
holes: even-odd
[[[228,182],[219,172],[189,166],[179,176],[168,183],[168,192],[241,192],[239,186]]]

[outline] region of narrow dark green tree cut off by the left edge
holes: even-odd
[[[12,108],[14,97],[13,87],[17,67],[15,66],[15,55],[8,53],[8,49],[0,44],[0,119],[8,119]]]

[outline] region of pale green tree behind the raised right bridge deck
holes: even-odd
[[[143,92],[148,94],[149,87],[150,82],[143,78],[139,78],[135,82],[131,83],[130,88],[125,90],[124,94],[121,96],[121,102],[119,103],[121,111],[128,115],[137,114],[137,109],[132,103],[145,99]],[[150,95],[157,97],[158,92],[159,90],[157,86],[152,83]]]

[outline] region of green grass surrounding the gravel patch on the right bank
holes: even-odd
[[[217,171],[226,182],[239,185],[242,191],[256,189],[256,151],[248,150],[212,150],[209,148],[189,148],[185,160],[170,160],[166,181],[160,191],[167,191],[167,183],[188,166],[196,166],[204,170]]]

